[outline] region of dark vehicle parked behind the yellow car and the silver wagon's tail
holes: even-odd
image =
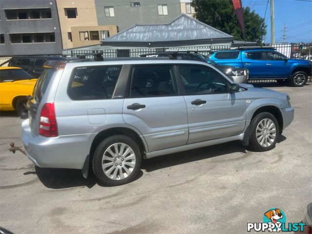
[[[2,66],[8,63],[9,67],[20,67],[33,77],[39,77],[43,71],[43,64],[48,60],[68,60],[60,56],[14,56],[8,61],[0,64]]]

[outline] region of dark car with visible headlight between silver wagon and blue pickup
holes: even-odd
[[[144,54],[140,55],[140,57],[149,57],[149,56],[156,56],[156,57],[170,57],[171,59],[183,59],[183,60],[194,60],[194,61],[201,61],[207,62],[225,75],[227,75],[230,79],[232,79],[235,83],[245,83],[249,78],[249,71],[247,68],[240,68],[237,66],[229,66],[229,65],[219,65],[215,61],[209,59],[205,55],[198,54],[198,52],[160,52],[160,53],[153,53],[153,54]]]

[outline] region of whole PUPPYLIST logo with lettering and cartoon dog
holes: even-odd
[[[286,215],[283,211],[277,208],[268,210],[263,215],[263,223],[247,223],[247,231],[254,230],[255,232],[269,231],[277,232],[303,232],[305,223],[288,223],[286,224]]]

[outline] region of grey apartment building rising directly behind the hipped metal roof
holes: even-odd
[[[180,0],[95,0],[98,25],[118,31],[136,24],[169,23],[181,15]]]

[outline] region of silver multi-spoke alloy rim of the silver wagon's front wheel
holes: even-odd
[[[262,119],[257,126],[255,136],[259,145],[269,147],[273,144],[276,137],[276,127],[272,119]]]

